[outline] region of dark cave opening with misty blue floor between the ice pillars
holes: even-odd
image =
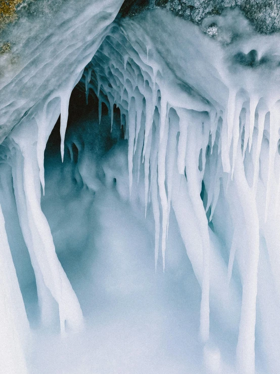
[[[121,372],[128,372],[131,367],[138,372],[143,365],[148,371],[166,373],[174,368],[196,367],[203,361],[199,353],[201,343],[191,336],[199,329],[201,290],[180,239],[174,213],[170,213],[165,273],[161,252],[155,272],[153,211],[148,206],[145,218],[141,192],[145,189],[144,164],[139,165],[136,185],[140,192],[134,191],[130,196],[125,122],[116,105],[111,121],[108,98],[108,106],[101,104],[100,117],[96,90],[97,87],[91,87],[86,94],[83,77],[72,91],[63,162],[60,117],[44,151],[41,209],[87,325],[85,337],[76,338],[78,348],[75,346],[75,349],[80,359],[78,353],[73,354],[72,340],[67,341],[67,349],[73,355],[70,361],[77,370],[82,367],[81,361],[86,361],[85,367],[97,372],[112,370],[110,363],[104,364],[108,354],[114,369],[117,367]],[[106,100],[106,95],[102,100]],[[190,283],[192,288],[188,286]],[[32,284],[34,287],[35,281]],[[31,285],[25,286],[23,297],[29,321],[41,329],[39,309],[34,309],[28,287]],[[196,320],[190,318],[194,309]],[[48,334],[51,330],[53,334],[59,332],[58,315],[47,324]],[[50,370],[56,373],[62,364],[70,370],[70,363],[65,366],[59,355],[52,356],[52,364],[45,364],[50,347],[45,335],[41,339],[36,340],[37,349],[32,357],[35,370],[39,367],[41,373]],[[52,339],[54,342],[54,336]],[[88,347],[81,353],[84,339]],[[55,342],[58,352],[65,349],[56,338]],[[97,357],[93,352],[100,342],[103,343]],[[185,361],[186,354],[193,358]]]

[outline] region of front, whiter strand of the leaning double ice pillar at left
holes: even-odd
[[[51,230],[41,212],[38,192],[36,193],[36,167],[33,161],[32,149],[24,151],[23,184],[29,227],[33,240],[33,250],[42,272],[46,286],[59,304],[61,331],[65,329],[64,322],[68,321],[72,328],[82,324],[82,312],[71,284],[56,256]],[[36,198],[37,196],[37,198]],[[48,264],[49,266],[47,266]],[[71,302],[70,302],[71,300]]]

